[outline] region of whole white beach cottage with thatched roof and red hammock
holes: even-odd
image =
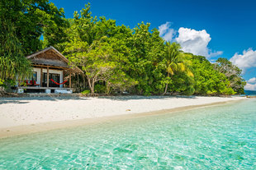
[[[45,48],[26,57],[33,72],[24,83],[17,80],[17,93],[72,93],[71,76],[83,73],[70,67],[69,60],[54,47]]]

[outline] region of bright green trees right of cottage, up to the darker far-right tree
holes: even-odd
[[[149,23],[134,29],[117,26],[105,17],[92,17],[88,3],[80,14],[74,12],[69,25],[67,41],[58,45],[73,65],[83,69],[92,94],[99,82],[96,91],[106,86],[106,94],[235,94],[230,80],[206,57],[165,43],[158,30],[149,30]]]

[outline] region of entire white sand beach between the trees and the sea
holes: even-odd
[[[245,97],[25,97],[0,99],[0,137],[80,125],[99,117],[134,115],[225,103]],[[81,121],[83,120],[83,123]],[[80,121],[80,122],[79,122]],[[58,125],[58,126],[57,126]],[[61,126],[60,126],[61,125]],[[28,128],[30,126],[30,128]],[[36,129],[37,128],[37,129]]]

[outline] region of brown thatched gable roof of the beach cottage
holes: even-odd
[[[26,57],[31,60],[33,65],[42,66],[42,67],[58,67],[65,70],[69,70],[75,73],[82,73],[78,67],[72,67],[69,65],[68,58],[64,57],[62,53],[54,47],[45,48],[39,52],[32,53]]]

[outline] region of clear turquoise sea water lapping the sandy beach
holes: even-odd
[[[256,169],[256,99],[2,139],[0,169]]]

